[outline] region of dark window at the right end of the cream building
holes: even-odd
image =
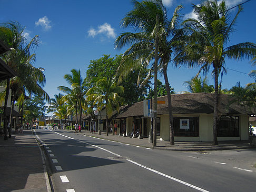
[[[218,137],[239,137],[239,117],[223,115],[218,122]]]

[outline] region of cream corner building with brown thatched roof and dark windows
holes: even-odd
[[[175,141],[212,142],[213,101],[212,93],[171,95]],[[159,97],[157,104],[157,138],[169,140],[169,112],[167,96]],[[154,102],[152,101],[152,104]],[[154,105],[154,104],[153,104]],[[143,137],[149,136],[151,118],[144,116],[143,102],[126,107],[116,116],[123,126],[120,133],[130,135],[132,122]],[[152,107],[153,108],[153,107]],[[248,114],[230,95],[219,97],[218,140],[248,140]]]

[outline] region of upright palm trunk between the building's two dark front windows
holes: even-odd
[[[218,68],[216,64],[214,66],[214,110],[213,110],[213,145],[219,145],[217,139],[217,124],[218,124],[218,97],[219,97],[219,86],[218,86]]]

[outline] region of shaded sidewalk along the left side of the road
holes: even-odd
[[[0,190],[47,191],[43,161],[32,130],[13,134],[4,140],[0,135]],[[14,132],[13,132],[14,133]]]

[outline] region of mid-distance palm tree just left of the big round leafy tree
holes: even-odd
[[[85,101],[84,95],[87,90],[85,80],[81,76],[81,71],[72,69],[72,74],[64,75],[64,79],[66,79],[67,83],[70,84],[71,88],[65,86],[58,86],[58,89],[64,93],[67,93],[63,97],[64,100],[69,100],[71,103],[74,104],[74,108],[76,109],[76,119],[78,122],[77,117],[77,110],[79,110],[79,123],[82,123],[82,112],[83,112],[83,102]]]

